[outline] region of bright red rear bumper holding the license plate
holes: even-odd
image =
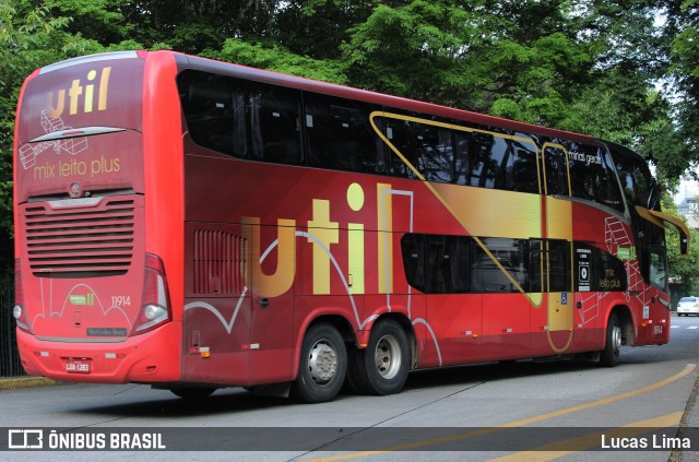
[[[173,322],[119,343],[56,342],[20,329],[16,333],[22,366],[29,375],[87,383],[157,383],[181,378],[181,335]],[[67,371],[69,359],[88,364],[90,371]]]

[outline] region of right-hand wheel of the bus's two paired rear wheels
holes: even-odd
[[[353,352],[347,381],[366,394],[394,394],[407,379],[411,354],[401,325],[387,319],[371,330],[366,350]]]

